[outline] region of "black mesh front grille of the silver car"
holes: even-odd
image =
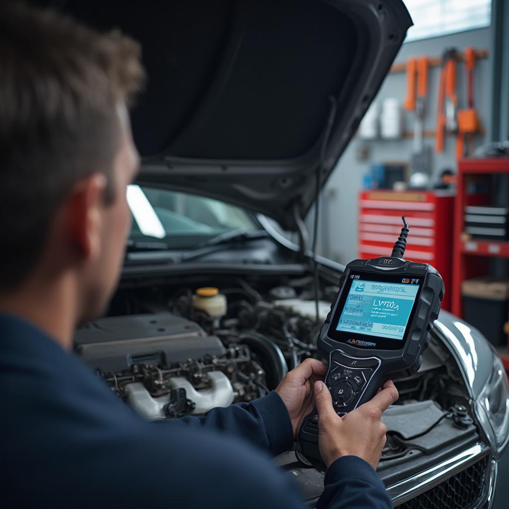
[[[483,497],[486,488],[486,473],[489,467],[489,456],[443,483],[398,505],[398,509],[471,509]]]

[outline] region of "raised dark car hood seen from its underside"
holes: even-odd
[[[287,229],[313,204],[318,173],[322,186],[412,24],[402,0],[64,5],[142,43],[140,183],[228,201]]]

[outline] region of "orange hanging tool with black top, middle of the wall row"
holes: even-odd
[[[456,96],[456,61],[458,52],[456,48],[445,50],[440,71],[440,84],[438,91],[437,128],[435,152],[441,153],[444,148],[445,132],[456,134],[458,122],[456,118],[458,98]],[[444,109],[445,106],[445,109]]]

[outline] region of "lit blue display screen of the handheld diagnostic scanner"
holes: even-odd
[[[419,291],[417,279],[405,281],[352,281],[336,330],[402,340]]]

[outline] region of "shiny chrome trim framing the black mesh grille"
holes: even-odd
[[[462,451],[461,453],[449,458],[448,460],[435,465],[428,470],[419,472],[408,479],[402,480],[399,483],[395,483],[387,487],[387,493],[392,499],[394,506],[398,506],[416,496],[428,491],[449,477],[467,469],[480,459],[490,454],[490,447],[483,443],[476,443],[472,447]],[[485,494],[480,499],[480,503],[476,507],[482,506],[490,498],[494,490],[494,484],[496,480],[496,462],[491,462],[491,468],[487,474]],[[491,504],[491,502],[490,502]],[[474,508],[472,508],[474,509]]]

